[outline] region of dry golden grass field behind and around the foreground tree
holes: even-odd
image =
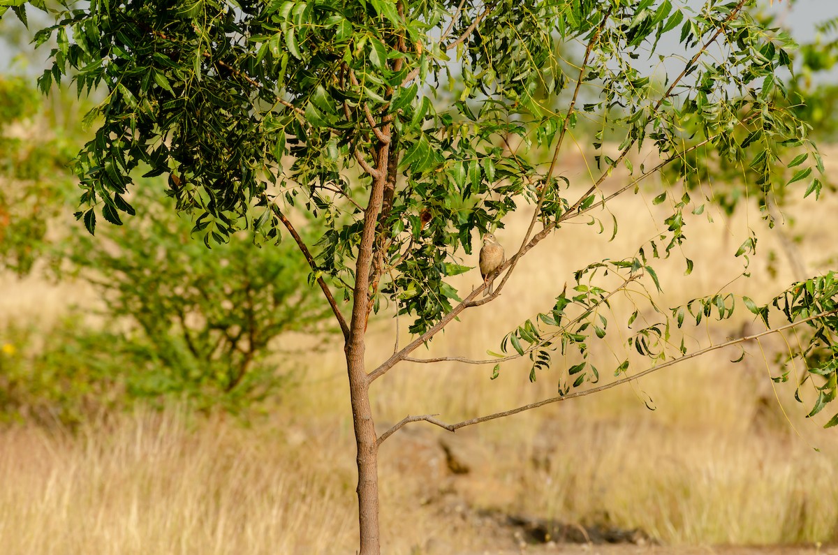
[[[832,170],[836,158],[826,158]],[[584,181],[582,158],[570,158],[564,174],[573,183]],[[611,181],[621,179],[626,176],[615,174]],[[578,267],[631,256],[660,231],[658,216],[666,215],[667,207],[653,207],[650,200],[641,189],[611,207],[620,225],[611,242],[610,233],[597,235],[584,222],[562,227],[525,257],[499,300],[468,311],[430,350],[416,355],[484,357],[487,349],[498,350],[513,325],[552,305]],[[835,209],[834,196],[789,209],[796,218],[789,233],[800,236],[799,257],[810,273],[835,266]],[[709,213],[714,223],[705,213],[685,230],[685,255],[696,262],[691,276],[683,276],[678,256],[655,262],[665,289],[662,306],[721,288],[765,303],[794,281],[777,234],[763,229],[753,206],[730,220]],[[508,254],[520,243],[529,215],[522,207],[496,234]],[[728,286],[742,272],[742,260],[733,252],[747,237],[747,226],[760,234],[753,277]],[[778,253],[776,278],[766,272],[772,251]],[[465,260],[477,264],[476,256]],[[476,286],[476,274],[456,278],[457,285]],[[5,276],[0,319],[49,326],[71,301],[90,294],[75,283]],[[623,323],[631,309],[626,302],[614,305]],[[689,329],[686,344],[695,350],[741,336],[743,329],[758,331],[749,316],[742,309],[732,320]],[[649,310],[641,316],[653,317]],[[382,316],[370,323],[370,367],[392,352],[393,322]],[[400,324],[403,344],[406,323]],[[456,434],[427,423],[402,429],[380,451],[383,552],[518,552],[514,534],[481,520],[481,511],[639,528],[669,546],[566,547],[573,553],[703,553],[717,552],[708,546],[720,544],[835,542],[838,436],[835,429],[820,427],[836,408],[805,419],[809,405],[794,402],[794,386],[775,389],[768,380],[775,371],[773,354],[784,349],[784,340],[753,343],[739,364],[729,362],[737,350],[716,350],[630,385]],[[622,347],[613,341],[597,349],[602,369],[616,360],[609,359],[609,349]],[[494,381],[490,366],[402,364],[375,382],[376,423],[384,431],[420,413],[455,422],[551,397],[562,362],[556,358],[556,368],[535,384],[523,364],[504,366]],[[189,416],[172,407],[103,418],[75,435],[28,425],[0,429],[0,551],[354,552],[354,439],[343,365],[337,337],[317,353],[283,360],[282,370],[294,370],[297,384],[250,427],[223,415]],[[609,378],[603,371],[603,381]],[[646,407],[649,398],[654,411]],[[441,441],[470,471],[452,472]]]

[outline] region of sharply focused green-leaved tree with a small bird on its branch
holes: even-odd
[[[680,255],[687,221],[713,201],[685,184],[677,193],[664,187],[654,202],[672,211],[659,236],[577,271],[570,293],[557,291],[544,312],[504,338],[504,356],[446,357],[495,365],[495,374],[505,360],[528,357],[531,380],[555,353],[575,357],[557,372],[557,397],[461,423],[420,415],[375,430],[373,381],[416,360],[411,353],[463,311],[494,301],[520,258],[547,236],[572,220],[605,231],[600,209],[697,148],[747,170],[763,205],[799,182],[820,195],[822,179],[813,176],[823,166],[809,127],[784,107],[789,92],[779,75],[793,41],[754,21],[750,3],[708,0],[694,13],[670,0],[95,0],[65,5],[35,43],[57,44],[42,91],[72,75],[80,94],[107,92],[85,118],[98,127],[76,163],[77,217],[89,231],[97,215],[121,224],[134,212],[127,191],[140,169],[168,174],[178,210],[194,214],[194,232],[208,245],[242,229],[297,242],[344,335],[366,555],[380,552],[378,448],[407,423],[455,430],[587,395],[748,339],[687,353],[672,337],[685,322],[728,318],[737,305],[765,324],[777,317],[768,304],[725,293],[674,309],[654,302],[661,283],[653,263]],[[43,0],[30,5],[44,8]],[[23,6],[13,10],[25,20]],[[656,80],[649,59],[658,59],[664,36],[687,54],[670,56],[677,69]],[[581,51],[571,61],[574,45]],[[599,128],[591,142],[601,173],[572,183],[556,169],[582,117]],[[616,155],[603,137],[618,137]],[[515,148],[518,141],[525,148]],[[629,157],[641,147],[660,156],[651,168],[635,168]],[[779,171],[781,162],[790,171]],[[696,163],[680,163],[685,183],[706,169]],[[618,166],[631,177],[607,193],[602,185]],[[496,271],[494,293],[482,297],[481,285],[461,298],[446,279],[469,270],[461,257],[472,253],[473,234],[502,227],[522,201],[531,206],[529,229]],[[323,219],[315,245],[287,218],[292,205]],[[617,234],[616,216],[608,223]],[[756,243],[752,234],[736,252],[743,273]],[[687,272],[693,265],[685,259]],[[789,323],[764,332],[813,330],[809,346],[793,353],[821,353],[808,375],[818,388],[813,415],[835,397],[836,293],[832,273],[793,285],[773,300]],[[613,381],[582,387],[600,375],[589,342],[618,330],[607,318],[615,296],[644,299],[621,329],[630,332],[625,346],[653,366],[636,371],[636,355],[626,355]],[[368,370],[367,321],[386,307],[411,319],[412,339]]]

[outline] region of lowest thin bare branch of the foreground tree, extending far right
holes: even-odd
[[[504,417],[512,416],[513,414],[518,414],[519,412],[530,411],[530,410],[532,410],[534,408],[538,408],[538,407],[544,407],[545,405],[549,405],[549,404],[554,403],[554,402],[567,401],[568,399],[574,399],[576,397],[585,397],[587,395],[592,395],[593,393],[603,392],[607,389],[611,389],[613,387],[623,385],[624,383],[627,383],[629,381],[638,380],[639,378],[641,378],[643,376],[646,376],[648,374],[651,374],[652,372],[663,370],[664,368],[666,368],[668,366],[673,366],[675,364],[678,364],[679,362],[683,362],[685,360],[690,360],[692,358],[695,358],[696,356],[705,355],[706,353],[709,353],[712,350],[724,349],[725,347],[729,347],[731,345],[737,345],[737,344],[740,344],[740,343],[744,343],[746,341],[758,339],[760,337],[763,337],[764,335],[776,334],[776,333],[779,333],[779,332],[784,331],[786,329],[791,329],[791,328],[794,328],[796,326],[799,326],[800,324],[805,324],[807,322],[811,322],[812,320],[824,318],[826,316],[830,316],[831,314],[836,314],[836,313],[838,313],[838,309],[829,310],[829,311],[821,313],[821,314],[815,314],[815,316],[810,316],[809,318],[804,318],[802,320],[798,320],[797,322],[791,322],[789,324],[785,324],[783,326],[780,326],[779,328],[767,329],[767,330],[765,330],[763,332],[760,332],[758,334],[748,335],[747,337],[740,337],[740,338],[735,339],[735,340],[725,341],[724,343],[720,343],[718,345],[711,345],[711,346],[706,347],[704,349],[696,350],[696,352],[691,353],[689,355],[679,356],[675,359],[667,360],[666,362],[664,362],[663,364],[660,364],[658,366],[651,366],[650,368],[647,368],[646,370],[641,371],[638,374],[635,374],[634,376],[625,376],[625,377],[620,378],[619,380],[615,380],[615,381],[612,381],[611,383],[604,384],[603,386],[597,386],[597,387],[592,387],[591,389],[586,389],[583,392],[570,393],[568,395],[564,395],[564,396],[560,396],[560,397],[551,397],[551,398],[545,399],[543,401],[532,402],[528,405],[524,405],[522,407],[516,407],[516,408],[510,409],[508,411],[494,412],[493,414],[488,414],[486,416],[482,416],[482,417],[478,417],[478,418],[471,418],[469,420],[463,420],[462,422],[453,423],[453,424],[444,423],[444,422],[438,420],[437,418],[434,418],[434,417],[437,416],[437,414],[426,414],[426,415],[421,415],[421,416],[409,416],[409,417],[403,418],[399,423],[396,423],[392,428],[388,429],[385,433],[382,433],[380,435],[380,437],[378,438],[378,443],[380,444],[380,443],[384,442],[384,440],[386,438],[389,438],[393,433],[396,433],[396,431],[398,431],[400,428],[403,428],[404,426],[406,426],[406,424],[409,424],[409,423],[412,423],[412,422],[425,421],[425,422],[435,424],[435,425],[439,426],[440,428],[445,428],[449,432],[456,432],[459,428],[465,428],[466,426],[473,426],[474,424],[488,422],[489,420],[495,420],[497,418],[504,418]]]

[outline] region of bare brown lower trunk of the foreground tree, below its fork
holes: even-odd
[[[346,366],[349,371],[349,394],[352,400],[352,421],[358,447],[358,516],[360,555],[379,555],[378,522],[378,447],[375,445],[375,423],[370,408],[370,382],[364,371],[363,337],[348,344]]]

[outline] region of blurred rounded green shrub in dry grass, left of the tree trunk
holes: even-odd
[[[58,276],[94,285],[110,330],[80,330],[75,340],[115,353],[111,372],[131,399],[186,397],[241,412],[283,382],[272,340],[325,333],[328,305],[308,286],[292,242],[260,248],[242,232],[208,249],[163,189],[159,179],[141,182],[130,226],[101,227],[96,237],[75,226],[62,241]]]

